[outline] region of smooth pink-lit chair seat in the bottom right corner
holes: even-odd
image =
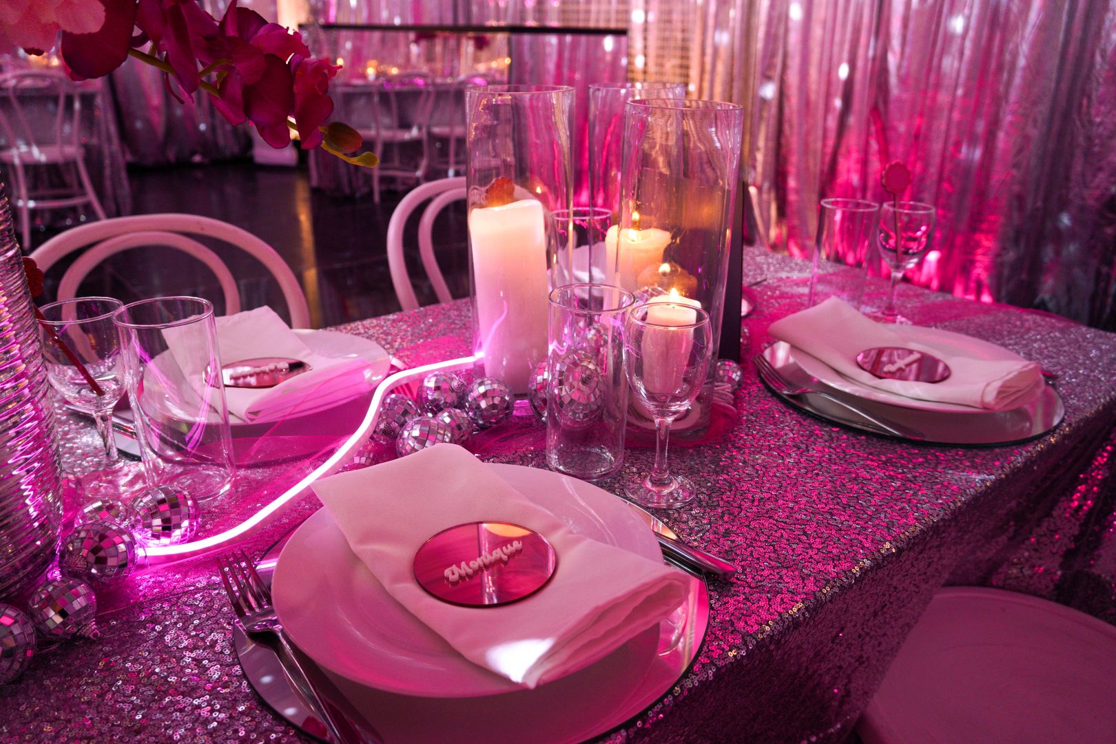
[[[1116,627],[1026,595],[943,589],[857,733],[865,744],[1112,744]]]

